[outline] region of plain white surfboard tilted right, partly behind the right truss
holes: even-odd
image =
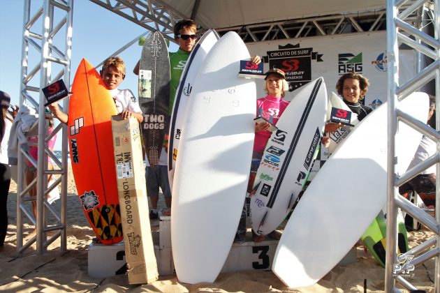
[[[413,93],[400,108],[426,121],[428,97]],[[386,202],[387,106],[378,107],[339,145],[305,191],[279,241],[272,271],[288,287],[323,278]],[[399,122],[397,172],[406,170],[421,134]]]

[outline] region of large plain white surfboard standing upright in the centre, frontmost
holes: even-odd
[[[214,282],[228,257],[246,196],[256,85],[237,77],[249,52],[226,33],[200,66],[175,166],[171,243],[177,278]]]

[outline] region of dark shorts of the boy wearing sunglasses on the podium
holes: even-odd
[[[168,182],[167,166],[145,167],[145,181],[147,181],[147,195],[159,196],[159,187],[164,197],[171,197],[170,183]]]

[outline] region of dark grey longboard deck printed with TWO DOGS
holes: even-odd
[[[139,105],[149,165],[159,165],[163,139],[167,134],[170,104],[170,58],[166,41],[159,31],[145,39],[139,63]]]

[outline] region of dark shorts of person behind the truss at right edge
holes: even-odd
[[[399,186],[399,193],[403,195],[410,191],[416,191],[423,200],[425,206],[435,205],[435,174],[418,174],[410,181]]]

